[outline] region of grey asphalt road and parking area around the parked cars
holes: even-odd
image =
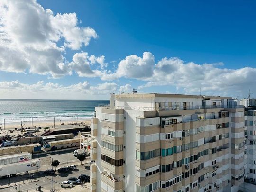
[[[73,156],[73,150],[39,155],[39,158],[41,159],[41,161],[44,161],[44,159],[50,159],[49,157],[53,157],[54,160],[60,161],[60,165],[57,167],[57,169],[62,166],[66,166],[66,164],[68,165],[74,164],[74,165],[77,165],[77,168],[78,168],[78,170],[70,171],[68,173],[58,173],[58,171],[55,172],[55,174],[53,175],[53,188],[56,189],[57,191],[62,191],[60,184],[64,180],[67,180],[69,177],[78,177],[80,174],[90,175],[90,165],[89,164],[80,165],[81,163],[77,160],[76,157]],[[37,155],[33,156],[33,158],[37,158]],[[87,158],[82,163],[86,163],[89,161],[90,159]],[[17,192],[18,190],[23,192],[27,192],[27,191],[34,192],[37,189],[38,185],[41,186],[42,191],[49,192],[51,190],[51,183],[52,183],[51,176],[44,174],[44,171],[50,168],[51,168],[51,165],[49,161],[49,164],[45,164],[41,166],[38,174],[34,173],[34,179],[32,180],[27,179],[27,174],[12,177],[10,178],[10,181],[8,178],[0,179],[1,185],[6,185],[10,182],[12,186],[12,187],[0,190],[0,192]],[[15,183],[17,183],[17,186],[15,186]],[[15,187],[17,187],[17,190],[15,189]]]

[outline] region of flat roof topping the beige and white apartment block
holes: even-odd
[[[186,95],[186,94],[166,94],[166,93],[121,93],[121,94],[115,95],[115,98],[145,98],[145,97],[232,99],[232,97],[207,96],[207,95]]]

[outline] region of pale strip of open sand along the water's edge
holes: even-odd
[[[78,118],[77,123],[82,125],[91,125],[91,118]],[[73,123],[73,125],[72,125]],[[55,128],[65,128],[67,126],[74,126],[74,124],[76,123],[76,118],[72,118],[72,119],[64,119],[64,120],[55,120]],[[62,125],[64,124],[64,125]],[[31,127],[32,126],[32,121],[22,121],[22,127],[26,128],[26,127]],[[35,128],[35,126],[37,127],[50,127],[50,128],[54,128],[54,120],[33,120],[33,128]],[[3,122],[0,123],[0,127],[1,129],[4,128]],[[21,127],[21,122],[8,122],[5,123],[5,130],[6,129],[14,129],[14,128],[20,128]]]

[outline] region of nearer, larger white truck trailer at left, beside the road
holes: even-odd
[[[37,166],[38,168],[40,168],[40,160],[38,161],[37,165],[37,159],[7,165],[0,165],[0,177],[15,176],[16,174],[24,172],[28,173],[29,171],[36,170]]]

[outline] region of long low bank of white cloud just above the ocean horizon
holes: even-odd
[[[26,84],[17,81],[0,82],[2,98],[45,98],[45,99],[91,99],[97,95],[97,99],[105,99],[110,92],[118,90],[118,85],[113,82],[105,82],[91,86],[89,82],[79,82],[69,86],[58,83],[44,83],[39,81],[34,84]]]

